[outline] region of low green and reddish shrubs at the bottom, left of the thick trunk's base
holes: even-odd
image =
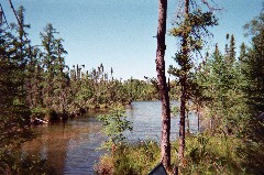
[[[160,154],[160,146],[154,141],[120,144],[112,156],[102,156],[95,167],[98,174],[147,174],[158,163]]]

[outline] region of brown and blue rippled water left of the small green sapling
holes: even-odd
[[[24,144],[24,152],[47,158],[56,174],[95,174],[94,164],[100,156],[97,147],[103,136],[101,123],[94,117],[36,127],[35,131],[38,136]]]

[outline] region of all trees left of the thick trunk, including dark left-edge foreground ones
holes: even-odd
[[[85,65],[69,68],[65,64],[64,40],[52,24],[40,33],[40,45],[32,46],[24,12],[23,7],[15,11],[18,23],[0,23],[1,174],[21,172],[24,164],[32,174],[38,167],[45,168],[40,160],[33,161],[35,164],[20,161],[18,147],[34,138],[30,124],[40,121],[35,119],[67,119],[91,109],[160,98],[155,79],[117,79],[113,69],[107,73],[102,64],[91,70],[85,70]]]

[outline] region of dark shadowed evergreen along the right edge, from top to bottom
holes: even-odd
[[[248,119],[243,124],[241,138],[244,139],[242,147],[245,165],[249,172],[263,174],[262,166],[264,146],[264,125],[260,116],[264,112],[264,12],[244,25],[246,35],[251,36],[251,45],[241,45],[240,67],[242,72],[242,90]],[[258,157],[258,158],[256,158]]]

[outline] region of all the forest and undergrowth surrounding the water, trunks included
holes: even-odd
[[[24,7],[11,6],[15,23],[8,23],[0,9],[0,174],[53,174],[46,160],[21,155],[22,144],[37,136],[32,125],[96,110],[109,111],[98,117],[109,138],[108,152],[95,165],[98,174],[147,174],[160,162],[168,174],[264,173],[264,11],[243,26],[250,44],[237,47],[234,35],[227,33],[224,51],[216,44],[202,55],[209,29],[218,25],[216,9],[206,1],[205,11],[185,0],[184,12],[167,30],[167,1],[158,2],[157,77],[144,80],[116,78],[114,67],[106,70],[103,63],[69,67],[64,40],[53,24],[46,24],[41,43],[32,45]],[[167,70],[166,31],[179,45]],[[123,132],[133,129],[124,107],[143,100],[162,101],[161,143],[125,142]],[[197,113],[197,133],[189,132],[189,111]],[[173,114],[179,117],[176,141],[169,140]]]

